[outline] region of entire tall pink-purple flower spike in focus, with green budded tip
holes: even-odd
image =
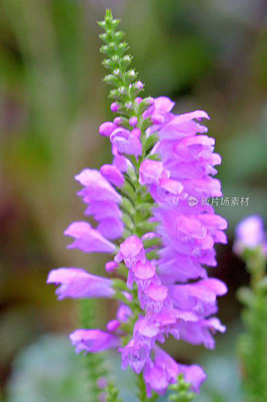
[[[48,283],[59,284],[59,298],[113,297],[119,300],[116,319],[107,331],[78,329],[70,335],[76,351],[116,348],[122,368],[143,373],[148,397],[163,394],[183,373],[198,392],[205,374],[201,367],[178,364],[158,343],[172,335],[194,345],[214,348],[212,334],[225,327],[214,317],[216,297],[226,293],[223,282],[208,278],[203,265],[215,266],[214,243],[226,243],[225,219],[210,205],[188,205],[188,197],[221,196],[220,182],[212,176],[220,156],[214,139],[200,124],[203,111],[176,115],[174,103],[160,96],[142,99],[143,84],[134,70],[126,70],[118,20],[107,13],[100,23],[106,33],[103,64],[112,71],[105,81],[115,85],[111,111],[119,114],[100,126],[109,137],[113,162],[100,171],[84,169],[75,176],[84,187],[78,192],[85,215],[98,222],[74,222],[65,234],[75,240],[69,247],[84,252],[106,252],[113,259],[106,271],[113,279],[81,268],[52,270]],[[114,279],[119,273],[126,283]]]

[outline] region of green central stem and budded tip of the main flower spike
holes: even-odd
[[[139,85],[137,84],[136,77],[137,73],[133,70],[127,70],[130,65],[132,56],[124,55],[128,49],[128,45],[125,42],[121,42],[124,37],[124,33],[121,31],[116,31],[119,24],[119,20],[113,20],[110,10],[106,10],[106,15],[104,21],[98,23],[104,30],[105,33],[100,35],[100,38],[104,41],[100,49],[102,53],[107,57],[103,60],[103,65],[111,70],[111,74],[105,76],[104,81],[108,84],[115,86],[115,89],[110,90],[109,97],[116,100],[119,110],[117,113],[121,115],[120,126],[126,129],[131,129],[129,125],[129,118],[137,118],[137,127],[140,130],[140,141],[142,144],[142,155],[136,158],[134,155],[127,155],[131,161],[133,167],[129,168],[127,173],[124,174],[125,183],[122,188],[118,191],[122,194],[122,204],[123,217],[122,221],[125,224],[125,231],[123,238],[126,239],[129,235],[136,235],[139,238],[149,231],[154,231],[157,222],[149,222],[151,217],[151,207],[153,205],[153,199],[150,194],[148,195],[144,186],[140,185],[138,182],[139,168],[141,162],[148,156],[157,159],[157,155],[150,155],[150,150],[154,146],[155,142],[158,140],[157,135],[153,134],[149,138],[146,138],[145,130],[152,125],[149,118],[143,119],[142,113],[148,109],[151,105],[150,98],[143,99],[139,104],[135,100],[136,96],[141,92]],[[131,85],[129,85],[131,84]],[[147,241],[146,247],[159,246],[159,238],[151,239]],[[147,258],[156,258],[157,250],[153,250],[147,253]],[[120,264],[119,273],[127,279],[128,269],[122,268],[124,264]],[[116,290],[115,298],[122,299],[122,291],[125,289],[126,285],[122,285],[121,281],[115,279],[113,281],[113,287]],[[138,319],[139,314],[143,314],[140,303],[138,300],[137,286],[134,284],[131,290],[133,299],[129,302],[127,300],[126,304],[131,307],[133,315],[129,318],[127,323],[121,323],[121,329],[125,331],[125,337],[123,337],[123,345],[131,339],[133,333],[134,323]],[[142,375],[138,376],[138,397],[141,402],[154,401],[157,398],[157,394],[153,393],[152,398],[147,398],[145,385]],[[110,399],[113,400],[110,396]],[[114,402],[115,402],[114,396]]]

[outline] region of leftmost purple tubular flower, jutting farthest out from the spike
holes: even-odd
[[[65,297],[112,297],[115,293],[111,279],[92,275],[81,268],[52,269],[47,283],[61,284],[55,292],[59,300]]]

